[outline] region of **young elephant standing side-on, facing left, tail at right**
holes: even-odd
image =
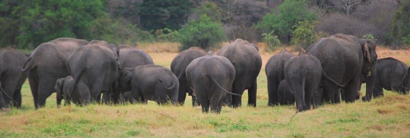
[[[147,103],[147,100],[164,105],[168,102],[176,105],[178,101],[179,82],[168,69],[159,65],[140,65],[122,69],[118,77],[121,93],[130,91],[124,96],[131,103]]]

